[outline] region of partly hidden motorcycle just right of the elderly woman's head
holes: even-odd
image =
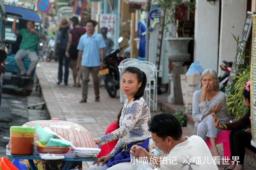
[[[220,80],[220,86],[219,86],[219,90],[225,92],[226,90],[226,86],[228,83],[228,77],[230,75],[230,71],[233,65],[233,62],[228,62],[228,61],[222,61],[225,65],[220,65],[220,68],[225,71],[224,74],[222,76],[219,77]]]

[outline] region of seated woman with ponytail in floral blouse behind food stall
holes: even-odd
[[[127,100],[122,108],[120,127],[113,132],[94,139],[96,144],[102,145],[119,139],[114,149],[98,159],[89,170],[131,169],[130,148],[137,144],[148,152],[154,152],[154,141],[148,131],[150,112],[143,99],[146,87],[146,74],[137,67],[127,67],[122,75],[122,92]],[[123,151],[122,151],[123,150]]]

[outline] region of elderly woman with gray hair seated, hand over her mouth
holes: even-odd
[[[218,129],[214,127],[212,113],[221,123],[229,122],[226,110],[226,96],[219,91],[219,79],[216,71],[206,69],[200,77],[200,90],[195,91],[192,101],[192,117],[195,122],[196,135],[204,140],[210,138],[212,155],[220,156],[216,147]]]

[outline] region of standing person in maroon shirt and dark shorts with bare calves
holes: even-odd
[[[73,16],[71,19],[71,23],[73,28],[69,30],[68,32],[68,45],[66,48],[66,56],[70,57],[70,68],[73,72],[73,79],[74,79],[74,87],[80,87],[80,79],[82,76],[81,69],[76,69],[76,63],[77,63],[77,56],[78,56],[78,49],[77,45],[79,42],[80,37],[86,33],[85,28],[82,28],[79,26],[79,21],[76,16]],[[78,78],[76,81],[76,77]]]

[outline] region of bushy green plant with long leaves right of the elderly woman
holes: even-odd
[[[238,57],[238,46],[240,43],[244,43],[244,41],[240,41],[239,36],[236,38],[233,35],[233,37],[236,40],[236,45],[237,45],[236,60],[234,61],[236,64],[237,57]],[[242,57],[242,59],[244,60],[248,56],[246,56],[245,51],[243,51],[240,57]],[[227,91],[226,105],[228,108],[228,114],[235,117],[235,119],[241,118],[248,111],[248,108],[244,105],[244,97],[243,97],[244,87],[248,80],[250,80],[250,66],[248,64],[238,65],[238,69],[235,70],[235,76],[233,76],[232,83],[228,85],[228,87],[226,87],[226,91]]]

